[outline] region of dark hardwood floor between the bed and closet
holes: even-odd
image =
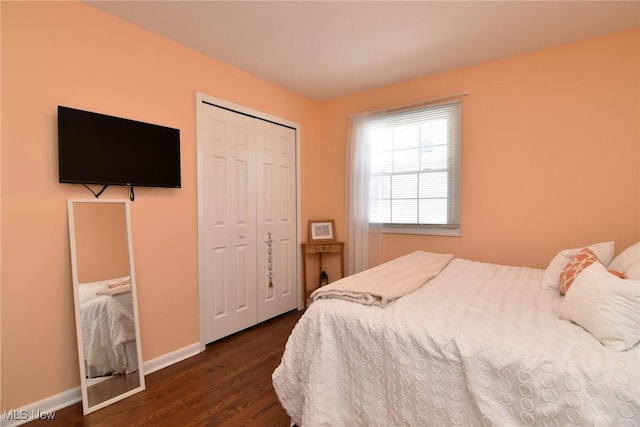
[[[301,315],[292,311],[217,341],[203,353],[145,376],[145,391],[87,416],[77,403],[56,411],[54,421],[25,425],[287,427],[290,419],[271,374]]]

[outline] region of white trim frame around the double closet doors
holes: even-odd
[[[296,149],[296,239],[295,245],[296,248],[300,247],[300,236],[302,236],[302,229],[300,215],[300,124],[296,122],[292,122],[290,120],[283,119],[281,117],[277,117],[262,111],[257,111],[249,107],[245,107],[243,105],[235,104],[233,102],[216,98],[201,92],[196,92],[196,168],[197,168],[197,199],[198,199],[198,297],[199,297],[199,322],[200,322],[200,351],[204,351],[206,348],[206,337],[205,337],[205,288],[204,288],[204,239],[201,233],[203,232],[205,226],[203,224],[204,221],[204,178],[203,178],[203,167],[204,167],[204,149],[202,143],[202,114],[205,108],[208,108],[206,104],[212,104],[217,107],[225,108],[233,112],[237,112],[239,114],[243,114],[250,117],[255,117],[260,120],[265,120],[268,122],[272,122],[275,124],[279,124],[282,126],[286,126],[289,128],[293,128],[296,131],[296,139],[295,139],[295,149]],[[296,250],[296,253],[298,251]],[[302,283],[302,273],[301,273],[301,259],[298,255],[296,257],[296,278],[298,281],[298,310],[304,309],[304,292],[300,290],[300,284]]]

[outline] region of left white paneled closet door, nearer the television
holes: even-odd
[[[200,262],[211,342],[257,322],[255,123],[217,107],[205,108],[202,119]]]

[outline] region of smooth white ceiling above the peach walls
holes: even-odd
[[[311,99],[640,26],[640,1],[89,1]]]

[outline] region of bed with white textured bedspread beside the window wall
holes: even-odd
[[[573,271],[562,295],[584,249],[601,262]],[[634,277],[606,272],[624,282],[605,289],[626,289],[621,310],[582,296],[602,274],[587,270],[615,264],[612,242],[562,251],[546,270],[451,258],[386,302],[314,294],[273,373],[278,398],[303,427],[640,425],[640,246],[625,252],[617,265]],[[385,269],[351,277],[389,282]]]

